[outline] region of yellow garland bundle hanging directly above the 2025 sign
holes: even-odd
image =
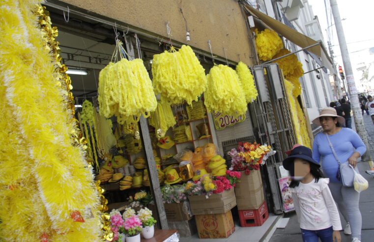
[[[209,112],[237,117],[247,111],[242,85],[236,72],[227,65],[215,65],[206,76],[208,86],[204,103]]]

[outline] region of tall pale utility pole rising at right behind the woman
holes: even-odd
[[[343,25],[342,25],[342,19],[340,18],[338,3],[336,0],[330,0],[330,5],[331,5],[332,14],[334,16],[334,22],[335,22],[335,27],[336,27],[336,33],[338,35],[340,51],[342,53],[343,65],[345,68],[345,79],[346,79],[347,86],[348,86],[347,88],[348,88],[349,99],[350,99],[351,107],[353,111],[354,123],[356,125],[356,130],[357,130],[358,135],[360,135],[360,137],[364,141],[366,148],[367,148],[365,154],[362,156],[362,160],[368,161],[370,167],[373,167],[373,159],[370,155],[368,134],[366,132],[364,122],[362,119],[362,115],[361,115],[361,108],[360,108],[360,104],[358,101],[356,84],[354,82],[352,65],[349,59],[349,53],[348,53],[348,48],[347,48],[347,44],[345,41],[345,35],[344,35],[344,30],[343,30]]]

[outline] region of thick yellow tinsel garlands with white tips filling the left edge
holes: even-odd
[[[0,240],[99,241],[98,191],[32,10],[0,6]]]

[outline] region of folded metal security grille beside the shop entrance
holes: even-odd
[[[277,153],[266,161],[273,210],[283,212],[282,197],[279,190],[279,165],[288,151],[296,143],[289,103],[284,86],[283,75],[277,64],[257,65],[253,74],[259,90],[259,97],[254,105],[258,122],[258,137],[261,143],[269,144]]]

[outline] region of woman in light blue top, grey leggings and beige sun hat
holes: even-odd
[[[345,119],[336,114],[333,108],[324,108],[313,120],[322,126],[323,132],[318,133],[313,142],[313,159],[322,166],[323,175],[330,179],[329,187],[332,196],[338,204],[345,221],[344,233],[351,235],[352,242],[361,241],[362,216],[358,207],[360,194],[353,186],[344,186],[340,164],[348,163],[356,168],[357,159],[361,157],[366,146],[360,136],[349,128],[342,128]],[[331,145],[330,145],[331,144]]]

